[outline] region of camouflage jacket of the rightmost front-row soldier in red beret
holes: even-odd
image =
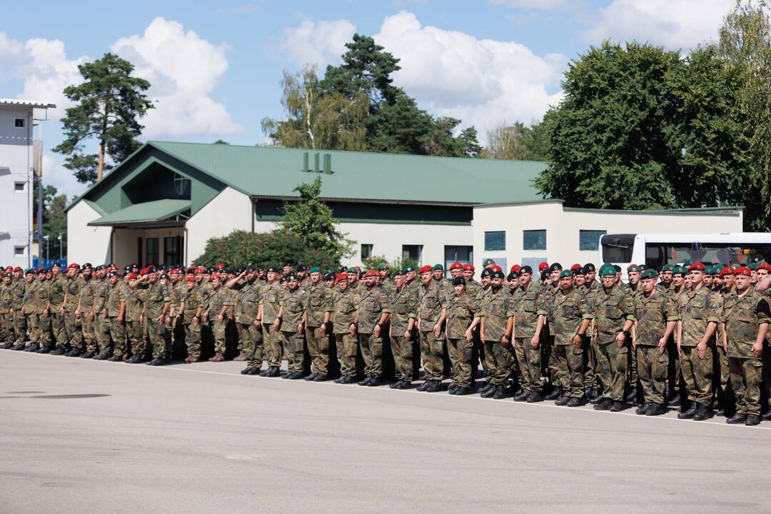
[[[747,291],[741,297],[732,291],[723,302],[722,316],[728,335],[728,356],[754,358],[752,344],[755,344],[758,337],[758,327],[763,323],[771,323],[766,297],[755,290]]]

